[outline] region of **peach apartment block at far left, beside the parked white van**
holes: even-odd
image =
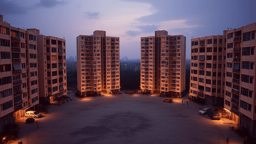
[[[0,124],[25,115],[38,106],[36,33],[3,22],[0,15]]]

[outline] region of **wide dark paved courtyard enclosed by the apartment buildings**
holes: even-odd
[[[207,106],[192,101],[182,105],[181,99],[168,103],[158,96],[70,96],[74,99],[67,104],[50,105],[47,114],[35,119],[39,129],[36,122],[19,120],[19,139],[14,143],[225,144],[227,137],[231,144],[243,143],[243,138],[228,129],[230,124],[198,114],[198,108]]]

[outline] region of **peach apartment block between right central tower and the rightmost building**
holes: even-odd
[[[224,36],[223,36],[224,35]],[[190,96],[212,106],[223,106],[226,32],[191,39]]]

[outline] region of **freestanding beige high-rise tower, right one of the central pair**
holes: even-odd
[[[159,30],[155,36],[141,37],[141,92],[185,95],[185,58],[183,35]]]

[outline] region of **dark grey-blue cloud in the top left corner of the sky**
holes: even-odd
[[[31,8],[23,7],[13,1],[1,0],[0,2],[0,13],[1,14],[25,14]]]

